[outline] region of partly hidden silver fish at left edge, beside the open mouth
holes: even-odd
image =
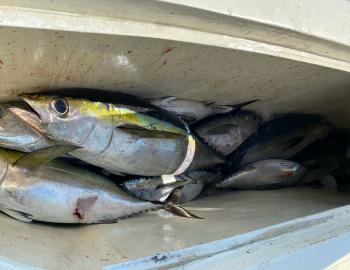
[[[9,113],[9,107],[25,108],[21,103],[0,104],[0,147],[22,152],[32,152],[51,146],[49,140],[29,128],[23,121]]]

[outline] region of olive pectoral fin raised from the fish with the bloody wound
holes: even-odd
[[[20,157],[13,165],[27,170],[34,170],[40,165],[78,148],[74,145],[55,145],[42,148]]]

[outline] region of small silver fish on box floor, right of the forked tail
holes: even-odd
[[[258,161],[238,169],[217,184],[218,188],[271,189],[298,183],[306,170],[300,164],[281,159]]]

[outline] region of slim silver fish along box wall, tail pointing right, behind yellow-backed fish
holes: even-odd
[[[177,114],[187,123],[194,123],[213,114],[227,113],[255,101],[256,100],[244,102],[238,105],[226,106],[176,97],[150,99],[151,104]]]

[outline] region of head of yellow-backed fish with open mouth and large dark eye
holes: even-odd
[[[94,129],[89,114],[90,101],[61,96],[22,95],[32,111],[10,108],[10,111],[32,129],[52,140],[82,146]]]

